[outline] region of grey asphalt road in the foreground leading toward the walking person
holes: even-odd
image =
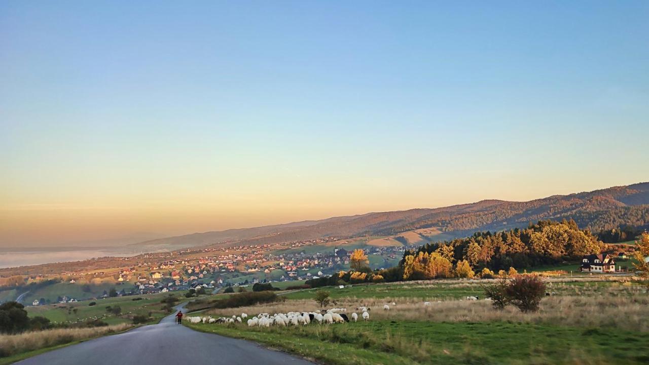
[[[160,324],[145,325],[119,335],[95,338],[25,359],[21,365],[313,365],[254,342],[193,331],[174,323],[173,314]]]

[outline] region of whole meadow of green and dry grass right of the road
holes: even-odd
[[[434,280],[324,288],[347,313],[371,307],[369,322],[299,327],[196,324],[199,331],[254,340],[326,364],[644,364],[649,361],[649,296],[635,277],[548,277],[538,312],[496,311],[482,293],[489,280]],[[212,309],[318,311],[315,290],[277,303]],[[430,306],[423,301],[431,301]],[[394,303],[394,305],[393,305]],[[389,304],[389,311],[382,309]]]

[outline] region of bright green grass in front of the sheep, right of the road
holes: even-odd
[[[628,331],[507,322],[375,321],[271,327],[190,325],[327,364],[643,364],[649,338]]]

